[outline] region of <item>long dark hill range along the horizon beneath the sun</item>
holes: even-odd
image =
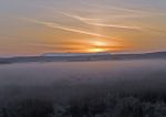
[[[166,59],[166,52],[142,54],[111,54],[111,53],[45,53],[40,56],[19,56],[0,59],[0,64],[25,62],[72,62],[72,61],[110,61],[110,60],[147,60]]]

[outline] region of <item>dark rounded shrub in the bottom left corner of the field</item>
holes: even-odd
[[[40,99],[19,100],[2,108],[3,117],[51,117],[53,114],[53,104]]]

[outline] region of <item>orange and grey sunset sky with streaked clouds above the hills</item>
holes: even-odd
[[[166,51],[166,0],[0,0],[0,56]]]

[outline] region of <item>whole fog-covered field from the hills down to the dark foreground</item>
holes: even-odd
[[[54,108],[51,117],[160,117],[165,84],[166,60],[157,59],[1,64],[0,114],[41,114],[40,105]],[[135,109],[123,113],[125,105]]]

